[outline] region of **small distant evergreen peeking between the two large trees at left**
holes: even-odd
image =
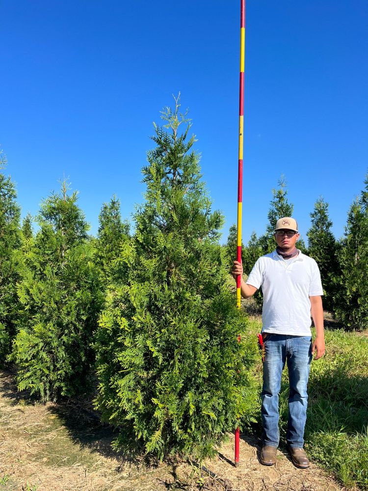
[[[114,272],[119,271],[116,259],[120,254],[122,240],[129,237],[130,226],[123,222],[120,214],[120,200],[115,194],[109,203],[104,203],[99,215],[100,226],[96,242],[96,265],[100,268],[103,281],[113,280]]]

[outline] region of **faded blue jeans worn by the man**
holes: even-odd
[[[287,361],[289,370],[289,418],[286,439],[289,447],[304,444],[307,419],[307,383],[312,361],[311,336],[263,334],[262,424],[263,445],[279,445],[279,392],[281,374]]]

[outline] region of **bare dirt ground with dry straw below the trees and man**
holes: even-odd
[[[337,491],[345,490],[311,464],[293,466],[279,451],[277,464],[259,462],[259,441],[242,435],[234,467],[234,435],[215,459],[195,463],[124,461],[110,447],[111,430],[75,405],[29,402],[14,376],[0,372],[0,491]],[[207,472],[209,471],[209,472]]]

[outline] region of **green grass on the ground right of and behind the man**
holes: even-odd
[[[252,321],[251,329],[256,334],[261,323]],[[325,338],[326,355],[311,365],[305,446],[315,463],[345,487],[368,490],[368,337],[326,329]],[[256,377],[261,389],[261,363]],[[280,392],[281,438],[286,434],[288,392],[285,370]]]

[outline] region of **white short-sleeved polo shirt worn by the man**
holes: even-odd
[[[262,287],[262,332],[311,335],[309,297],[323,295],[314,259],[300,250],[297,256],[284,259],[274,250],[257,260],[246,283]]]

